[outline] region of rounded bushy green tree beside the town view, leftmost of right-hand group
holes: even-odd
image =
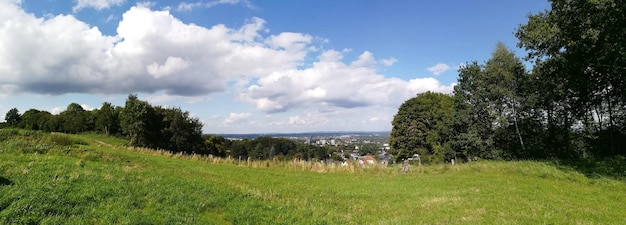
[[[436,161],[450,157],[453,110],[452,96],[441,93],[418,94],[402,103],[392,121],[390,153],[397,160],[416,153]]]

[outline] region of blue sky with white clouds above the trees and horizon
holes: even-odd
[[[204,133],[389,131],[546,0],[0,0],[0,119],[180,107]]]

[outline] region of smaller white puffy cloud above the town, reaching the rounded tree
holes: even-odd
[[[276,71],[260,78],[242,98],[255,103],[259,110],[275,113],[293,107],[396,107],[420,92],[452,92],[452,85],[443,85],[435,78],[404,81],[378,74],[371,52],[349,64],[342,59],[342,53],[328,50],[310,68]]]

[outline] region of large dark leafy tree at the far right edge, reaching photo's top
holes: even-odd
[[[574,142],[586,142],[600,155],[626,155],[620,144],[626,137],[624,12],[620,0],[553,0],[550,10],[530,15],[515,34],[527,58],[541,67],[539,78],[558,82],[555,91],[563,97],[550,104],[561,113],[550,116],[555,120],[550,127],[559,128],[556,132],[565,128],[562,144],[570,155],[580,154]],[[554,126],[559,121],[562,126]],[[568,124],[579,125],[572,129]]]

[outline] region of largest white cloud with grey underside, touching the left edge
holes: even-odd
[[[206,28],[145,4],[123,14],[116,36],[71,15],[37,18],[7,1],[0,1],[0,21],[0,87],[41,94],[207,95],[228,81],[297,67],[313,41],[298,33],[265,38],[260,18]]]

